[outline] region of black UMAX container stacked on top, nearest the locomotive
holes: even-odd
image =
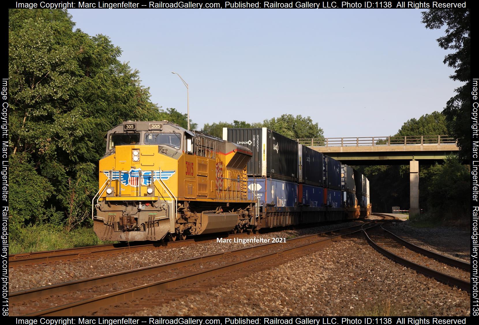
[[[248,147],[253,152],[248,176],[298,180],[298,146],[267,128],[223,128],[223,139]]]

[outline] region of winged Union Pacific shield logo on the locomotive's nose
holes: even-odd
[[[151,175],[152,172],[153,172],[153,175]],[[126,171],[120,172],[120,171],[114,170],[112,171],[112,181],[120,180],[121,184],[123,184],[124,186],[138,187],[140,185],[140,182],[142,186],[148,186],[148,185],[151,185],[152,178],[153,178],[153,182],[156,182],[160,179],[162,181],[166,181],[170,179],[170,177],[175,173],[176,171],[174,170],[142,171],[141,168],[138,168],[138,169],[132,168],[128,172]],[[110,172],[108,171],[103,171],[103,174],[105,174],[106,177],[110,176]]]

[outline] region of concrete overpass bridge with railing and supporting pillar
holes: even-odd
[[[445,156],[459,151],[456,139],[445,136],[394,136],[361,138],[296,139],[347,165],[410,166],[409,215],[419,214],[419,162],[442,163]]]

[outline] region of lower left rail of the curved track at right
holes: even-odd
[[[407,260],[407,259],[405,259],[405,258],[403,258],[399,255],[396,255],[396,254],[388,251],[386,248],[376,244],[376,242],[373,241],[369,237],[369,235],[367,234],[365,229],[363,229],[363,232],[366,236],[366,240],[368,241],[368,243],[371,246],[373,246],[373,248],[376,249],[376,251],[378,251],[379,253],[387,256],[389,259],[395,261],[396,263],[402,264],[405,267],[410,267],[413,270],[416,270],[416,271],[422,273],[423,275],[425,275],[427,277],[434,278],[434,279],[436,279],[440,282],[443,282],[445,284],[456,286],[461,290],[471,292],[471,283],[470,282],[468,282],[466,280],[458,279],[456,277],[450,276],[448,274],[444,274],[444,273],[436,271],[436,270],[433,270],[432,268],[429,268],[429,267],[424,267],[420,264],[414,263],[414,262],[412,262],[410,260]]]

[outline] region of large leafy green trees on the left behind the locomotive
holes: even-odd
[[[9,10],[13,228],[81,223],[98,190],[104,135],[120,122],[186,126],[186,115],[151,103],[107,36],[73,27],[66,10]]]

